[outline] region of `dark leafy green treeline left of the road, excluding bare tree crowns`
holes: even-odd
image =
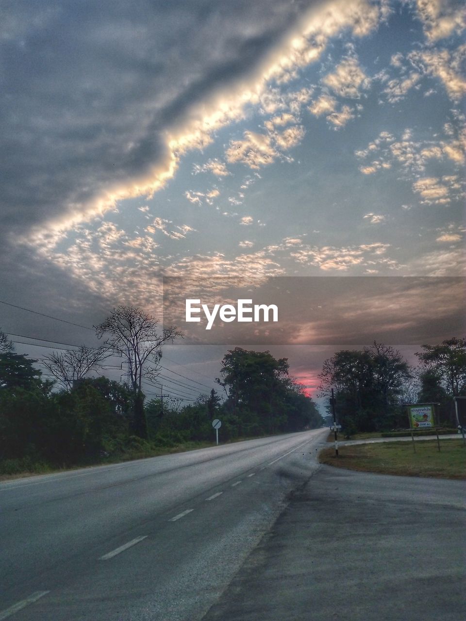
[[[222,442],[322,423],[313,401],[290,377],[286,359],[268,352],[227,352],[217,379],[223,402],[212,390],[193,404],[173,407],[103,376],[74,379],[57,390],[57,383],[42,379],[35,360],[14,353],[1,336],[0,347],[0,473],[211,443],[215,418],[222,420]]]

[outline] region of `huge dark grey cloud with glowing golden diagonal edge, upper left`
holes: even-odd
[[[316,61],[331,37],[345,29],[366,36],[388,15],[386,2],[366,0],[206,0],[202,11],[142,0],[105,10],[65,0],[52,11],[26,0],[26,27],[22,6],[3,16],[11,28],[2,211],[4,230],[35,227],[32,243],[41,227],[70,229],[124,199],[152,196],[186,152],[244,119],[246,107],[268,98],[298,109],[309,93],[286,102],[280,84]],[[31,57],[41,59],[34,68]]]

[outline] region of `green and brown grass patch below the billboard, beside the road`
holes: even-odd
[[[462,440],[441,440],[437,450],[436,440],[416,442],[380,442],[339,447],[336,458],[334,448],[319,453],[319,461],[329,466],[401,476],[423,476],[442,479],[466,479],[466,447]]]

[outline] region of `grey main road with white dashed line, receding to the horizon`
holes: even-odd
[[[328,429],[0,484],[0,621],[195,621]]]

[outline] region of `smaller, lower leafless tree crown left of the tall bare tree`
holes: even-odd
[[[99,363],[112,355],[108,347],[97,349],[82,345],[78,350],[67,350],[65,353],[53,351],[45,356],[43,364],[52,373],[58,383],[70,391],[75,381],[82,379],[99,368]]]

